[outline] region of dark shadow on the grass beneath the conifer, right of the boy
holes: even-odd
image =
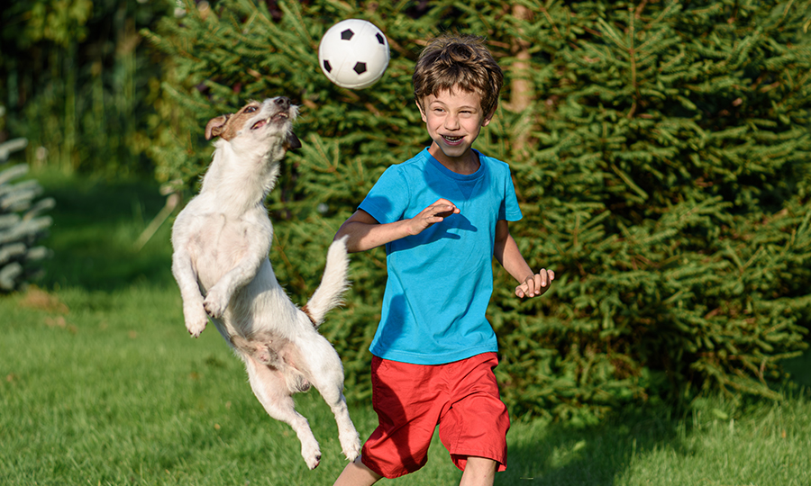
[[[790,380],[783,383],[781,390],[787,401],[807,401],[807,398],[798,397],[811,396],[811,351],[787,360],[785,369]],[[730,419],[733,422],[739,419],[762,422],[755,428],[761,428],[759,437],[766,437],[770,426],[764,425],[768,420],[763,418],[769,415],[769,410],[780,410],[784,406],[784,403],[758,400],[752,396],[707,397],[697,398],[680,412],[665,406],[618,410],[606,423],[588,428],[545,425],[537,421],[526,424],[530,430],[522,431],[521,437],[510,440],[509,467],[505,473],[497,475],[496,483],[500,486],[627,484],[633,482],[629,478],[634,464],[646,464],[643,466],[646,472],[652,468],[652,455],[661,457],[662,451],[678,457],[701,454],[696,450],[697,441],[688,437],[699,430],[706,431],[708,424],[721,423],[721,428],[728,428],[731,426],[726,424]],[[788,427],[797,427],[793,422],[789,423],[792,425]],[[784,427],[780,425],[782,439],[786,437]],[[673,464],[668,467],[674,467]]]

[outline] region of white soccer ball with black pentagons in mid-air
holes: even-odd
[[[336,85],[361,89],[374,85],[388,67],[388,40],[375,24],[360,19],[336,23],[323,34],[318,64]]]

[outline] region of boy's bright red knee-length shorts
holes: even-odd
[[[496,353],[447,365],[411,365],[372,357],[372,405],[378,428],[363,445],[360,460],[375,473],[396,478],[428,460],[439,424],[442,444],[462,471],[469,455],[506,469],[510,419],[498,396]]]

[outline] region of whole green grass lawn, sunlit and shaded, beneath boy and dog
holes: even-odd
[[[311,472],[222,338],[188,338],[169,225],[132,248],[162,206],[155,188],[39,178],[58,200],[55,257],[40,288],[0,296],[0,484],[332,484],[345,461],[317,393],[296,398],[322,445]],[[798,384],[780,403],[707,399],[687,417],[628,410],[596,428],[515,421],[497,484],[811,484],[811,356],[789,365]],[[351,415],[367,437],[369,403]],[[434,439],[396,484],[459,481]]]

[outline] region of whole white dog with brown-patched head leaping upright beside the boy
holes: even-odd
[[[321,392],[350,461],[360,453],[360,439],[343,397],[341,360],[316,330],[348,286],[345,242],[329,248],[322,283],[302,309],[279,286],[268,258],[273,226],[264,200],[287,149],[300,146],[292,132],[296,114],[295,105],[277,97],[208,122],[205,138],[219,139],[200,193],[172,228],[172,273],[188,332],[198,337],[211,318],[245,362],[268,414],[296,431],[313,469],[321,453],[307,420],[294,410],[294,393],[310,383]]]

